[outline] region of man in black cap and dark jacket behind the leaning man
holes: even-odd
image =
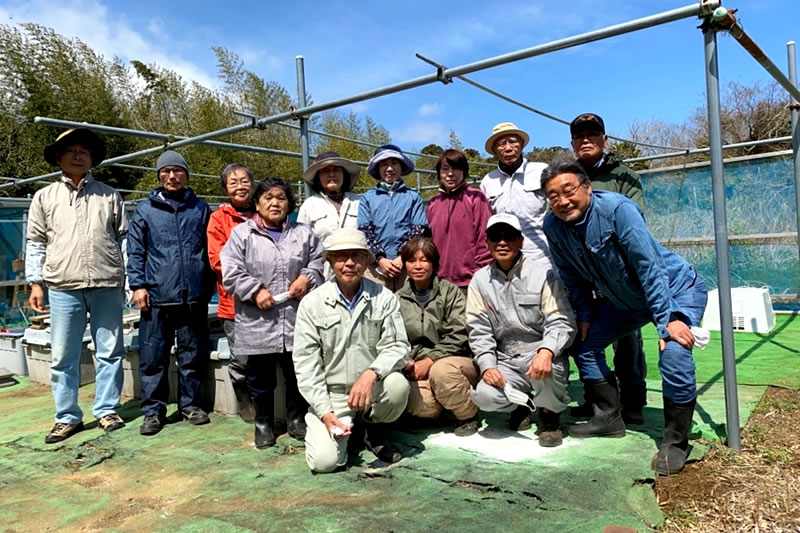
[[[639,174],[622,163],[615,153],[608,153],[608,136],[603,119],[594,113],[578,115],[569,125],[572,149],[589,179],[592,189],[611,191],[627,196],[644,211],[642,180]],[[601,296],[598,304],[604,300]],[[647,404],[647,365],[642,346],[642,333],[636,330],[614,343],[614,373],[610,379],[619,379],[622,419],[626,424],[644,422],[642,410]],[[586,403],[572,409],[573,416],[592,416],[592,397],[584,390]]]

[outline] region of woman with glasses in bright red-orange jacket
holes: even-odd
[[[239,415],[248,422],[253,420],[255,410],[250,393],[247,389],[247,382],[244,375],[244,368],[239,364],[234,352],[233,324],[236,313],[233,308],[233,297],[225,291],[222,286],[222,263],[219,254],[228,238],[231,236],[233,228],[247,221],[253,216],[253,206],[250,203],[250,190],[253,188],[253,173],[250,169],[238,163],[232,163],[225,167],[220,175],[222,190],[230,198],[231,203],[222,204],[219,209],[211,213],[208,221],[208,259],[211,268],[217,274],[217,297],[219,304],[217,316],[222,320],[222,327],[225,336],[228,338],[228,350],[231,360],[228,364],[228,373],[233,383],[233,391],[236,394],[236,402],[239,407]]]

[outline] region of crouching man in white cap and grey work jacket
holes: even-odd
[[[475,273],[467,292],[469,345],[481,371],[472,401],[511,412],[511,429],[523,431],[531,427],[533,390],[539,444],[558,446],[570,401],[566,348],[576,330],[567,292],[554,270],[523,255],[514,215],[489,218],[486,244],[494,261]]]

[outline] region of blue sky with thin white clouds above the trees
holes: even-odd
[[[0,23],[36,22],[78,37],[107,57],[156,62],[185,78],[218,85],[211,46],[240,54],[245,66],[292,93],[295,56],[316,103],[431,72],[419,52],[448,66],[527,48],[688,5],[688,0],[506,2],[135,2],[0,0]],[[782,70],[786,42],[800,41],[798,0],[726,2]],[[705,102],[703,38],[684,19],[471,74],[528,105],[571,119],[592,111],[608,133],[633,121],[682,122]],[[720,35],[722,83],[768,81],[729,36]],[[454,130],[482,151],[494,124],[513,121],[531,146],[568,143],[566,126],[461,82],[421,87],[351,106],[386,127],[395,142],[446,145]]]

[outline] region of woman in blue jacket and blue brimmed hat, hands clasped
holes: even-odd
[[[392,292],[402,287],[406,278],[400,249],[428,231],[422,197],[403,183],[403,176],[413,170],[414,162],[397,146],[376,148],[367,173],[378,185],[364,193],[358,204],[358,229],[367,236],[375,255],[364,276]]]

